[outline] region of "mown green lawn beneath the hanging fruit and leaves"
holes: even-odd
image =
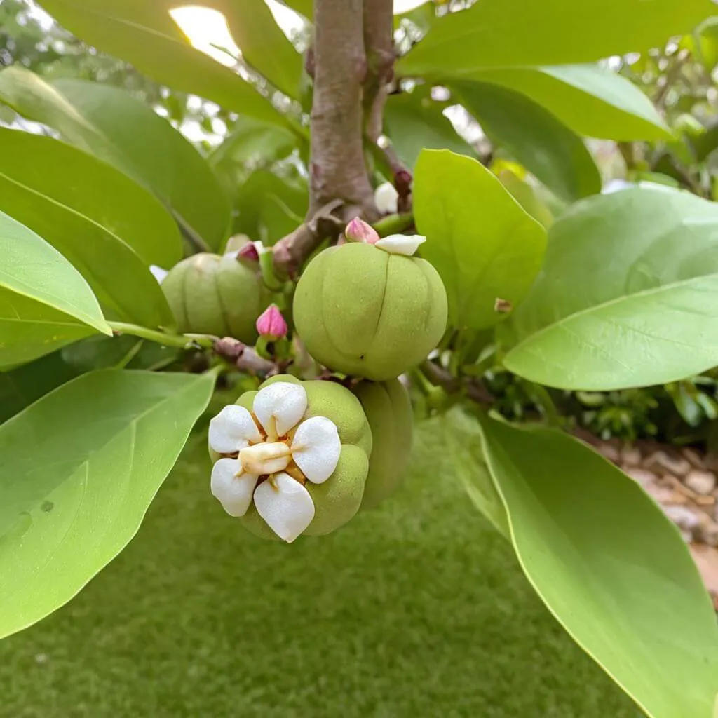
[[[129,548],[0,643],[0,716],[638,717],[417,444],[396,498],[284,546],[223,514],[195,434]]]

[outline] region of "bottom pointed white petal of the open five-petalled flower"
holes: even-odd
[[[288,474],[276,474],[254,491],[259,516],[279,538],[291,544],[314,518],[314,501],[309,491]]]

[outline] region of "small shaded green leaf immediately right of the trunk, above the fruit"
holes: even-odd
[[[450,149],[475,157],[476,153],[456,134],[442,108],[418,92],[390,95],[384,113],[386,134],[404,164],[414,167],[422,149]]]

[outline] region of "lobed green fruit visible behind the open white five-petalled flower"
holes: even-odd
[[[333,381],[300,381],[294,376],[282,374],[265,381],[260,391],[276,382],[291,382],[304,387],[307,392],[307,411],[302,421],[312,416],[325,416],[339,432],[342,446],[339,462],[332,475],[320,484],[311,481],[304,484],[314,502],[314,518],[303,533],[305,536],[322,536],[350,521],[360,508],[372,452],[371,429],[360,401],[341,384]],[[251,411],[257,393],[243,393],[236,404]],[[240,521],[256,536],[278,538],[253,504]]]

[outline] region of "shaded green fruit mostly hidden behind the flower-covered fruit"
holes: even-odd
[[[374,508],[396,491],[404,478],[411,456],[414,414],[409,392],[398,379],[381,383],[362,381],[354,393],[364,409],[373,438],[361,508]]]

